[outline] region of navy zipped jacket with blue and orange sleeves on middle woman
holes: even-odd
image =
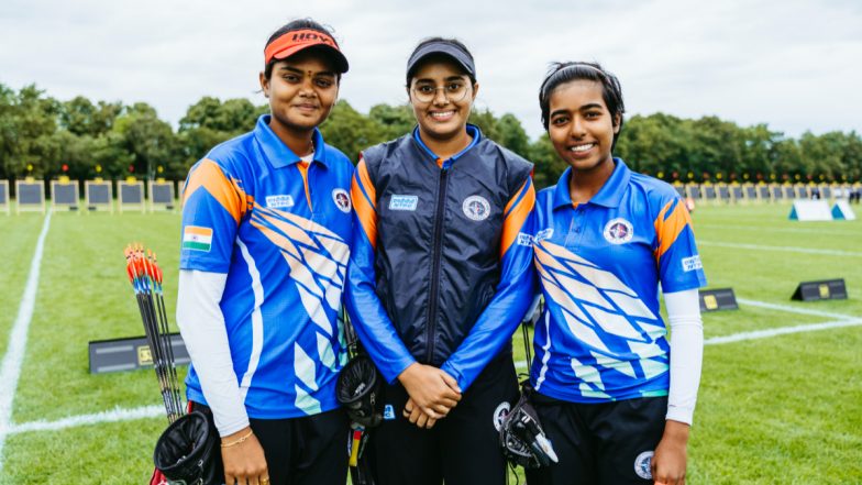
[[[415,131],[366,150],[354,175],[347,311],[388,382],[419,361],[465,390],[532,297],[532,164],[467,131],[450,159]]]

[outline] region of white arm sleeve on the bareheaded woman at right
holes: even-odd
[[[666,419],[692,425],[704,360],[704,322],[697,288],[664,294],[671,326],[671,390]]]

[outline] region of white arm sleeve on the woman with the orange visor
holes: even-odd
[[[219,307],[226,280],[226,274],[181,269],[177,295],[177,324],[222,437],[248,426]]]

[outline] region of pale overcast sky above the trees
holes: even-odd
[[[516,114],[532,137],[551,60],[600,62],[629,115],[862,132],[860,0],[2,0],[0,82],[146,101],[176,126],[202,96],[263,103],[264,44],[301,16],[334,27],[351,63],[340,96],[363,112],[404,102],[408,55],[444,35],[476,58],[477,106]]]

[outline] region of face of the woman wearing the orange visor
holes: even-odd
[[[327,119],[339,95],[335,69],[313,52],[277,62],[269,79],[261,73],[261,88],[269,98],[269,126],[279,135],[313,130]]]

